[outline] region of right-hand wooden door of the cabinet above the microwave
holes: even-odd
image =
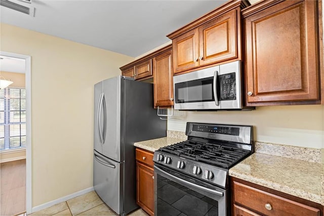
[[[200,66],[237,58],[236,9],[199,26]]]

